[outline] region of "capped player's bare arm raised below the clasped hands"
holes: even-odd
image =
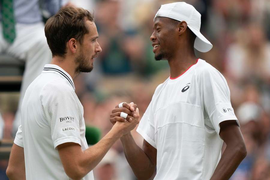
[[[155,172],[157,165],[157,149],[143,140],[143,149],[134,141],[131,133],[120,138],[125,156],[135,176],[139,180],[149,179]]]

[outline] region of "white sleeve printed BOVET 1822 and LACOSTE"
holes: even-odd
[[[41,94],[41,107],[51,128],[55,149],[63,143],[81,145],[77,101],[74,90],[66,86],[47,85]]]

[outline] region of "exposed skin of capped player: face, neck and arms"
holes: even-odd
[[[170,18],[157,17],[153,29],[150,40],[153,42],[153,47],[159,45],[153,49],[155,58],[156,60],[168,60],[171,77],[177,77],[190,65],[196,63],[197,58],[193,49],[195,39],[185,21],[175,24]],[[113,110],[112,123],[116,120],[114,117],[117,111],[117,108]],[[123,119],[119,117],[117,120],[122,121]],[[221,122],[219,136],[226,143],[226,149],[211,180],[229,179],[247,154],[243,136],[235,120],[228,119]],[[135,143],[131,133],[121,137],[120,140],[128,163],[137,179],[149,179],[157,165],[157,149],[146,140],[143,141],[143,149],[141,149]]]

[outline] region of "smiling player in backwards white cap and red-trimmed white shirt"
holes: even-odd
[[[229,179],[246,156],[244,140],[222,74],[194,49],[212,44],[200,33],[200,14],[184,2],[164,4],[154,18],[155,59],[166,59],[170,77],[158,85],[137,132],[141,149],[129,133],[121,139],[138,179]],[[122,120],[113,110],[111,122]],[[221,155],[223,141],[226,149]]]

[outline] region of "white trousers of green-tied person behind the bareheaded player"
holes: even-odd
[[[48,64],[52,59],[52,53],[45,37],[43,22],[35,24],[17,23],[15,28],[16,38],[12,44],[9,44],[3,38],[2,26],[0,25],[0,54],[9,54],[25,61],[19,104],[13,122],[12,135],[14,137],[19,125],[21,125],[20,110],[25,91],[31,82],[41,73],[44,65]]]

